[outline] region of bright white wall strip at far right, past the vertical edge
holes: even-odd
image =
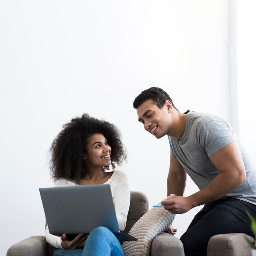
[[[256,2],[237,0],[237,85],[240,139],[256,164]]]

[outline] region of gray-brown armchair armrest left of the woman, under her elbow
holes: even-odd
[[[47,242],[44,236],[30,236],[12,245],[6,256],[47,256]]]

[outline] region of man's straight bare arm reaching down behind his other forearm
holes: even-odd
[[[170,156],[170,167],[167,177],[167,195],[183,195],[186,186],[186,172],[176,157]]]

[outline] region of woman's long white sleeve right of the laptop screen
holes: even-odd
[[[114,204],[119,229],[124,230],[130,207],[130,189],[126,173],[120,171],[120,175],[118,175],[117,179],[117,186],[114,194]]]

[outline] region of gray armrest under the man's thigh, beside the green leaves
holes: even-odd
[[[252,256],[252,249],[245,237],[252,243],[254,238],[243,233],[220,234],[212,236],[207,246],[207,256]]]

